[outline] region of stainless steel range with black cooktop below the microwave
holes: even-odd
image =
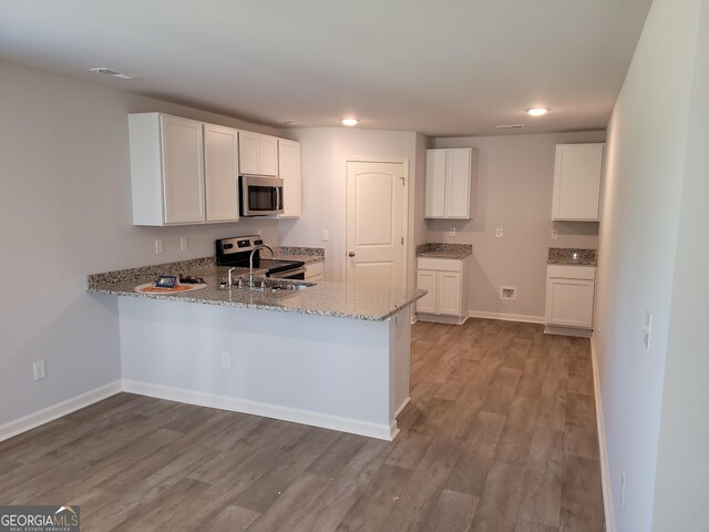
[[[260,258],[259,246],[264,241],[258,235],[234,236],[216,241],[217,264],[219,266],[249,267],[249,257],[254,253],[253,264],[255,268],[265,269],[266,277],[279,279],[306,278],[306,268],[302,260],[278,260]]]

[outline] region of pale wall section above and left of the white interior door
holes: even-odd
[[[347,157],[407,160],[409,162],[409,203],[415,204],[415,183],[423,178],[417,166],[417,145],[421,136],[413,132],[377,131],[343,127],[304,127],[288,132],[301,146],[300,219],[281,222],[284,245],[326,248],[326,280],[342,280],[345,264],[345,161]],[[411,217],[410,217],[411,221]],[[330,233],[320,239],[321,229]],[[411,246],[411,254],[414,246]],[[412,255],[411,255],[412,256]],[[412,275],[410,273],[410,275]],[[411,280],[411,279],[410,279]],[[410,286],[415,283],[411,280]]]

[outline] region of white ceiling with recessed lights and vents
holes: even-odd
[[[650,3],[0,0],[0,59],[275,126],[605,129]]]

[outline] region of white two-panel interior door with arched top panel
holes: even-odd
[[[346,282],[405,286],[402,162],[347,163]]]

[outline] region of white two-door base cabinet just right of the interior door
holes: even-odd
[[[428,291],[417,303],[422,321],[462,324],[467,318],[465,258],[418,258],[417,288]]]

